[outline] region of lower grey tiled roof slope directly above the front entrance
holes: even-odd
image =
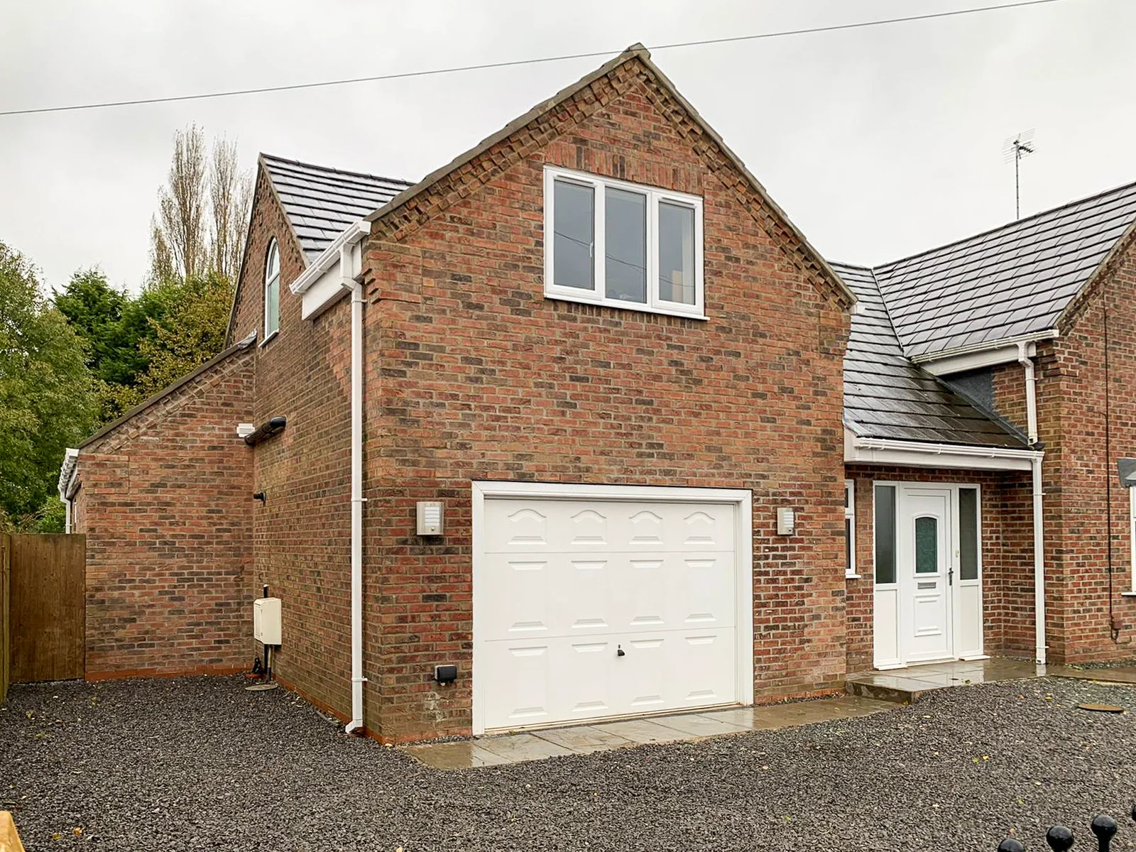
[[[844,423],[861,437],[1025,448],[1010,426],[903,354],[867,267],[832,264],[859,299],[844,354]]]

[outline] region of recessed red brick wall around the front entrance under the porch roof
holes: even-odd
[[[849,465],[855,482],[857,574],[847,580],[847,669],[872,668],[875,540],[872,484],[941,482],[978,485],[983,532],[983,643],[988,654],[1034,655],[1033,498],[1027,473]]]

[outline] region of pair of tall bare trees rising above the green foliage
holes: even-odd
[[[235,281],[251,195],[252,175],[241,173],[235,143],[215,141],[207,159],[204,131],[197,125],[178,131],[151,220],[151,282],[208,273]]]

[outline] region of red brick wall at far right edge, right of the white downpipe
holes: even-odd
[[[1122,596],[1131,590],[1129,501],[1117,475],[1117,459],[1136,457],[1136,243],[1061,332],[1045,370],[1061,400],[1045,462],[1055,549],[1050,646],[1055,660],[1072,663],[1136,659],[1136,599]]]

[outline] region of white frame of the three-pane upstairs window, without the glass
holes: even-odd
[[[592,187],[593,192],[593,248],[592,270],[595,290],[557,286],[553,282],[553,191],[556,181],[567,181]],[[630,302],[609,299],[604,293],[604,200],[607,187],[646,195],[646,302]],[[694,211],[694,304],[671,302],[659,296],[659,203],[666,202],[690,208]],[[556,166],[544,167],[544,295],[587,304],[604,304],[625,310],[648,314],[666,314],[676,317],[705,319],[705,275],[702,256],[702,199],[683,192],[661,190],[611,177],[601,177],[586,172],[575,172]]]

